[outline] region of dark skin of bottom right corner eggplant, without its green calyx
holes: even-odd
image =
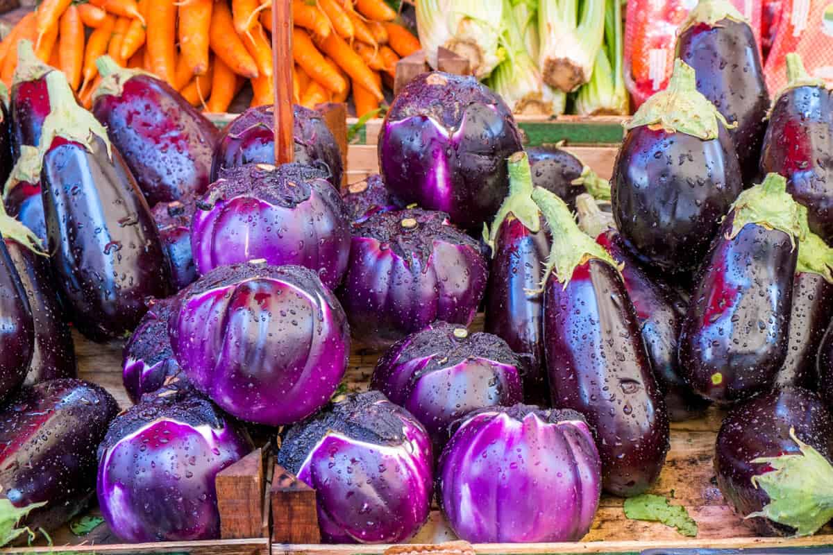
[[[751,461],[799,453],[790,429],[833,461],[833,416],[821,399],[806,389],[787,387],[758,395],[736,406],[723,420],[715,447],[717,486],[741,517],[760,511],[770,501],[766,492],[751,481],[770,467]],[[795,533],[767,518],[747,518],[744,522],[762,536]]]

